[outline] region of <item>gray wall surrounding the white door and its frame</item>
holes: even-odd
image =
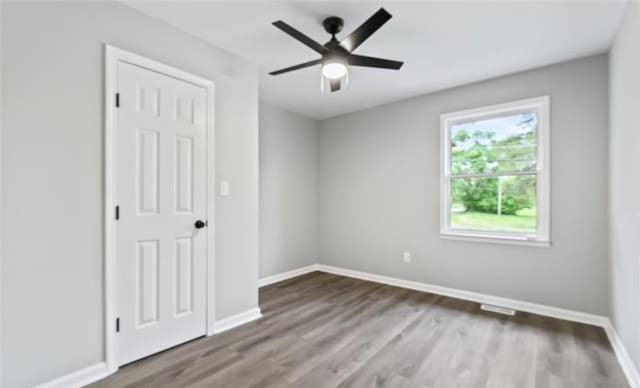
[[[2,7],[2,386],[104,359],[105,42],[215,82],[216,317],[257,307],[255,69],[120,3]]]

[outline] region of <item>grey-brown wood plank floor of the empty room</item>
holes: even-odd
[[[260,290],[264,318],[93,387],[628,387],[601,328],[321,272]]]

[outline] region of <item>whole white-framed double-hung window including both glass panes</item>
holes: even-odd
[[[549,246],[549,97],[440,117],[441,236]]]

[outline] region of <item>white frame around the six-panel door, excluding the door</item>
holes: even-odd
[[[207,91],[207,257],[206,257],[206,335],[214,334],[215,322],[215,110],[214,83],[208,79],[187,73],[172,66],[105,44],[105,95],[104,95],[104,338],[105,362],[108,373],[118,370],[118,342],[116,318],[118,311],[118,223],[117,206],[117,120],[115,95],[118,87],[118,62],[165,74],[200,86]]]

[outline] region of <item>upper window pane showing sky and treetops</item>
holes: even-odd
[[[518,113],[451,126],[451,173],[535,171],[535,113]]]

